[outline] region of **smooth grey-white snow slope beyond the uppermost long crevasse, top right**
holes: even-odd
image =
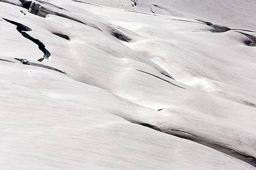
[[[200,19],[232,28],[256,28],[254,0],[80,0],[115,8],[144,11],[148,13],[167,14],[177,17]]]

